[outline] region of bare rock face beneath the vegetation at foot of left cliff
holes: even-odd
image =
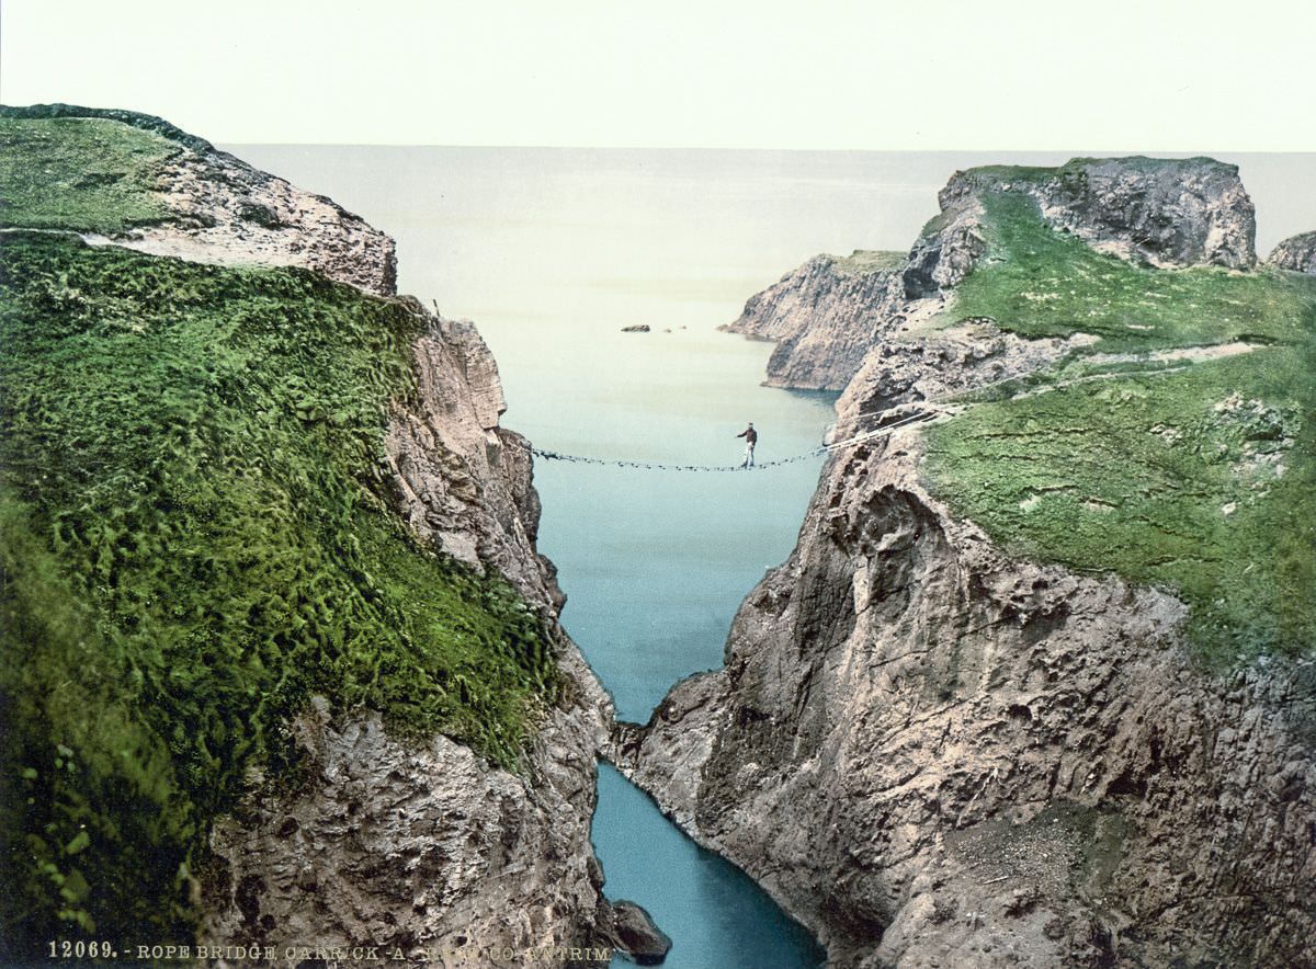
[[[549,711],[524,774],[445,736],[399,744],[374,713],[336,723],[316,707],[295,724],[305,790],[215,831],[226,870],[208,935],[279,952],[379,945],[415,961],[468,947],[470,965],[595,941],[607,914],[588,840],[601,718],[583,703],[596,699]]]

